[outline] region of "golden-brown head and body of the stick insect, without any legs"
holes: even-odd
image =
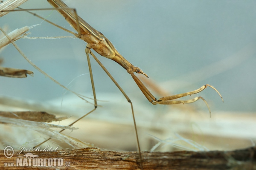
[[[88,43],[87,48],[93,48],[93,50],[101,56],[114,60],[125,68],[129,74],[132,74],[133,72],[145,74],[140,68],[134,67],[134,65],[122,57],[108,38],[106,38],[101,32],[91,27],[79,16],[79,28],[77,28],[76,14],[73,12],[73,10],[68,9],[68,6],[61,0],[48,0],[48,2],[55,8],[63,8],[63,10],[58,10],[58,12],[75,30],[78,31],[80,29],[81,35],[79,35],[79,38]],[[145,74],[145,76],[147,75]]]

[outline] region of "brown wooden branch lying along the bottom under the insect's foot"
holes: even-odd
[[[249,147],[234,151],[209,151],[209,152],[143,152],[144,169],[178,169],[178,170],[256,170],[256,147]],[[23,156],[27,152],[21,152]],[[140,169],[139,155],[137,152],[102,151],[97,148],[84,148],[77,150],[57,150],[53,152],[30,152],[41,159],[63,159],[59,169]],[[14,162],[17,151],[12,158],[7,159],[3,150],[0,150],[0,167],[4,168],[5,162]],[[66,167],[66,165],[69,165]],[[8,170],[22,169],[23,167],[5,167]],[[25,169],[26,167],[24,167]],[[32,168],[38,168],[33,167]],[[43,167],[42,167],[43,168]],[[45,167],[49,169],[49,167]],[[39,167],[41,169],[41,167]]]

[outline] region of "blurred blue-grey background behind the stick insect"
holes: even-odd
[[[200,93],[212,111],[256,111],[256,1],[188,0],[66,0],[93,28],[102,32],[120,54],[140,67],[159,88],[179,94],[213,85]],[[50,8],[45,0],[29,0],[23,8]],[[37,11],[48,20],[73,30],[56,11]],[[12,12],[0,18],[9,32],[32,26],[30,37],[70,36],[27,14]],[[84,49],[79,39],[18,40],[17,45],[39,68],[78,93],[92,97]],[[96,54],[96,52],[94,53]],[[2,66],[28,69],[34,77],[0,77],[0,94],[47,101],[62,97],[63,89],[35,70],[13,45],[1,51]],[[97,55],[131,100],[154,108],[131,76],[112,60]],[[122,95],[104,71],[91,59],[96,93]],[[153,92],[154,93],[154,92]],[[154,93],[157,98],[162,96]],[[199,95],[199,94],[198,94]],[[198,96],[198,95],[194,95]],[[189,96],[185,99],[191,99]],[[125,100],[124,100],[125,102]],[[128,105],[128,104],[127,104]],[[207,111],[203,102],[200,109]],[[136,104],[134,104],[134,107]]]

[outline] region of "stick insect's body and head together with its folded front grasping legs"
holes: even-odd
[[[220,93],[211,85],[204,85],[198,90],[183,93],[183,94],[177,94],[173,96],[166,96],[162,97],[160,99],[156,99],[150,91],[143,85],[143,83],[138,79],[135,75],[134,72],[138,74],[144,74],[146,77],[148,77],[147,74],[145,74],[140,68],[135,67],[132,65],[130,62],[128,62],[124,57],[122,57],[121,54],[116,50],[116,48],[112,45],[112,43],[99,31],[91,27],[88,23],[86,23],[81,17],[76,15],[76,12],[68,6],[63,3],[61,0],[47,0],[54,8],[59,8],[61,10],[58,10],[58,12],[67,20],[70,25],[79,32],[79,34],[76,34],[77,37],[79,37],[81,40],[84,40],[87,42],[87,48],[93,49],[96,51],[98,54],[100,54],[103,57],[107,57],[109,59],[114,60],[117,62],[119,65],[121,65],[125,70],[131,74],[133,77],[134,81],[137,83],[139,86],[140,90],[143,92],[145,97],[148,99],[149,102],[152,104],[163,104],[163,105],[172,105],[172,104],[179,104],[179,103],[191,103],[195,102],[198,99],[203,99],[202,97],[196,97],[191,100],[179,100],[179,101],[171,101],[173,99],[178,99],[183,96],[191,95],[191,94],[196,94],[201,91],[203,91],[207,86],[213,88],[219,95]],[[78,21],[78,22],[77,22]],[[89,51],[88,51],[89,53]],[[91,52],[90,52],[91,54]],[[221,95],[220,95],[221,96]],[[222,99],[222,97],[221,97]],[[204,99],[203,99],[204,100]],[[223,101],[223,99],[222,99]],[[204,102],[206,102],[204,100]],[[207,102],[206,102],[207,104]],[[209,108],[209,106],[207,105]]]

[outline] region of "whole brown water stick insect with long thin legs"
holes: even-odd
[[[91,84],[92,84],[92,88],[93,88],[94,108],[93,108],[93,110],[91,110],[90,112],[88,112],[87,114],[85,114],[84,116],[82,116],[81,118],[79,118],[78,120],[73,122],[72,124],[70,124],[70,126],[73,125],[74,123],[76,123],[77,121],[79,121],[80,119],[84,118],[88,114],[92,113],[97,108],[96,92],[95,92],[95,88],[94,88],[93,74],[92,74],[90,58],[89,58],[89,54],[90,54],[96,60],[96,62],[98,62],[98,64],[102,67],[102,69],[106,72],[106,74],[108,74],[108,76],[115,83],[115,85],[119,88],[119,90],[122,92],[122,94],[125,96],[125,98],[131,105],[131,112],[132,112],[133,119],[134,119],[134,127],[135,127],[135,132],[136,132],[136,137],[137,137],[137,145],[138,145],[138,150],[139,150],[139,154],[140,154],[140,162],[142,163],[142,161],[143,161],[143,159],[141,157],[141,150],[140,150],[140,144],[139,144],[139,140],[138,140],[138,133],[137,133],[137,127],[136,127],[132,102],[129,99],[129,97],[125,94],[125,92],[122,90],[122,88],[118,85],[118,83],[115,81],[115,79],[113,79],[113,77],[108,72],[108,70],[102,65],[102,63],[99,61],[99,59],[96,58],[96,56],[93,54],[91,49],[93,49],[94,51],[96,51],[98,54],[100,54],[103,57],[112,59],[113,61],[115,61],[116,63],[121,65],[129,74],[131,74],[131,77],[134,79],[134,81],[136,82],[136,84],[138,85],[138,87],[140,88],[142,93],[145,95],[145,97],[148,99],[148,101],[151,102],[153,105],[157,105],[157,104],[173,105],[173,104],[181,104],[181,103],[184,104],[184,103],[192,103],[192,102],[197,101],[198,99],[202,99],[206,103],[207,107],[209,108],[207,102],[201,96],[195,97],[194,99],[190,99],[190,100],[173,100],[173,99],[179,99],[181,97],[192,95],[192,94],[197,94],[197,93],[203,91],[208,86],[213,88],[211,85],[208,85],[208,84],[202,86],[201,88],[199,88],[195,91],[190,91],[190,92],[183,93],[183,94],[166,96],[166,97],[162,97],[160,99],[156,99],[151,94],[151,92],[145,87],[145,85],[143,85],[143,83],[140,81],[140,79],[134,74],[134,72],[136,72],[137,74],[143,74],[146,77],[148,77],[148,75],[145,74],[140,68],[132,65],[130,62],[128,62],[128,60],[126,60],[124,57],[122,57],[122,55],[119,54],[119,52],[112,45],[112,43],[102,33],[97,31],[96,29],[92,28],[88,23],[86,23],[84,20],[82,20],[81,17],[79,17],[76,14],[75,9],[68,8],[68,6],[66,6],[61,0],[48,0],[48,2],[67,20],[68,23],[70,23],[70,25],[78,33],[73,33],[71,31],[68,31],[68,32],[70,32],[71,34],[80,38],[81,40],[84,40],[85,42],[87,42],[87,47],[85,49],[85,53],[87,56],[87,61],[88,61],[88,66],[89,66],[89,71],[90,71],[90,79],[91,79]],[[44,19],[44,18],[42,18],[42,19]],[[45,21],[49,22],[48,20],[45,20]],[[57,26],[56,24],[53,24],[53,25]],[[58,26],[58,27],[60,28],[60,26]],[[61,28],[61,29],[66,31],[65,28]],[[215,88],[213,88],[213,89],[219,94],[219,92]],[[221,99],[222,99],[222,97],[221,97]],[[49,139],[47,139],[47,140],[49,140]],[[44,142],[46,142],[46,141],[44,141]]]

